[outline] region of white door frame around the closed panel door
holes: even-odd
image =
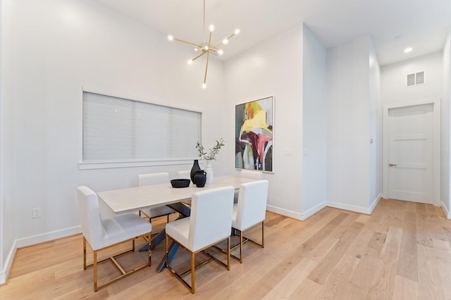
[[[419,100],[411,102],[400,102],[396,104],[385,104],[383,106],[383,154],[382,154],[382,185],[383,185],[383,197],[388,196],[388,110],[391,108],[404,108],[409,106],[419,106],[424,104],[433,104],[433,150],[432,150],[432,204],[435,206],[441,205],[441,135],[440,135],[440,99],[436,100]]]

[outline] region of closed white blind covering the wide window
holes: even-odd
[[[197,157],[202,114],[83,92],[83,162]]]

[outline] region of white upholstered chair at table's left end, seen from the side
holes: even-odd
[[[86,270],[91,265],[86,265],[86,242],[94,252],[93,267],[94,267],[94,291],[109,285],[121,278],[135,273],[151,264],[151,250],[150,250],[150,235],[152,232],[152,225],[146,220],[140,218],[135,213],[124,213],[116,215],[114,218],[101,220],[99,211],[99,199],[97,194],[89,189],[89,187],[78,187],[78,205],[80,208],[80,218],[82,220],[83,233],[83,268]],[[149,243],[149,259],[144,265],[140,265],[130,271],[125,271],[124,268],[116,261],[116,256],[125,254],[129,251],[135,251],[135,239],[144,237]],[[132,242],[132,249],[121,254],[116,254],[102,261],[97,261],[97,253],[104,249],[109,249],[118,244]],[[98,285],[97,282],[97,265],[106,260],[113,261],[114,265],[121,271],[121,275],[109,280],[108,282]]]

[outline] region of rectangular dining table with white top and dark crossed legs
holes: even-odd
[[[129,187],[126,189],[113,189],[111,191],[98,192],[97,195],[115,213],[128,213],[141,208],[152,208],[154,206],[167,205],[180,213],[180,218],[190,215],[190,208],[180,204],[182,201],[190,201],[192,194],[206,189],[231,186],[239,189],[242,183],[252,182],[254,179],[237,176],[215,176],[214,182],[204,187],[197,187],[190,183],[189,187],[175,188],[171,182],[160,185],[147,185],[143,187]],[[152,249],[165,239],[165,230],[161,230],[156,237],[152,237]],[[168,259],[171,261],[177,251],[178,245],[173,243],[169,249]],[[147,250],[145,244],[142,251]],[[166,267],[166,256],[156,268],[161,272]]]

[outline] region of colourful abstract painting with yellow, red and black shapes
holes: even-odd
[[[235,168],[273,172],[273,97],[235,106]]]

